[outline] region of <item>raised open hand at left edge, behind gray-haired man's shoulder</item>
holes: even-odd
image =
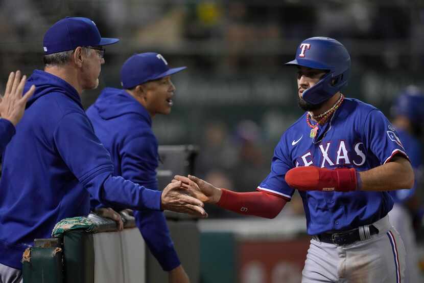
[[[25,105],[35,91],[35,85],[32,85],[22,96],[26,81],[26,76],[20,78],[20,71],[16,71],[16,74],[11,72],[7,80],[5,94],[3,98],[0,98],[0,116],[9,120],[14,126],[22,118]]]

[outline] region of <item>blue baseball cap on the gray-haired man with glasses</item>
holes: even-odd
[[[94,21],[84,17],[66,17],[54,24],[43,39],[44,54],[74,50],[81,46],[102,46],[118,42],[117,38],[102,38]]]

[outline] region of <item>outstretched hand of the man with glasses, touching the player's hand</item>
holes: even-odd
[[[162,191],[161,207],[163,210],[188,213],[199,217],[207,217],[203,202],[191,197],[190,192],[182,187],[182,183],[172,182]]]

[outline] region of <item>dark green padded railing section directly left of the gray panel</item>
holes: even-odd
[[[63,250],[64,282],[93,283],[95,254],[92,234],[84,230],[65,232]]]

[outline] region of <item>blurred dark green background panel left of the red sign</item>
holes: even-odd
[[[236,249],[233,233],[202,232],[200,234],[200,282],[237,282]]]

